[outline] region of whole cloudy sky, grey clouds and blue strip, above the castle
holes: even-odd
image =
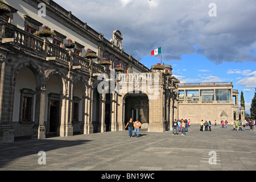
[[[250,113],[256,88],[255,0],[55,2],[108,40],[121,31],[124,51],[148,68],[160,63],[160,55],[150,53],[162,43],[162,62],[172,65],[181,82],[233,81]]]

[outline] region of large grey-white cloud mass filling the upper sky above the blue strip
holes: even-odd
[[[138,60],[150,55],[162,41],[165,61],[178,61],[182,55],[197,54],[217,64],[223,61],[256,62],[256,55],[250,51],[256,45],[256,24],[251,23],[255,22],[255,0],[246,3],[216,0],[216,17],[208,15],[209,1],[55,2],[72,11],[108,40],[112,39],[114,30],[120,30],[125,52]]]

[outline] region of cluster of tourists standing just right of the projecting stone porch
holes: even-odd
[[[181,131],[181,136],[185,136],[188,133],[188,127],[190,126],[190,119],[174,119],[172,123],[172,134],[177,135],[177,132]]]

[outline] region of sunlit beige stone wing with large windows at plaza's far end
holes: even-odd
[[[190,119],[191,123],[200,123],[202,119],[214,123],[216,120],[219,124],[221,120],[233,123],[240,118],[238,90],[233,90],[232,82],[178,85],[179,119]],[[241,119],[245,121],[244,114]]]

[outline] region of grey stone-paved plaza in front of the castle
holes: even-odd
[[[53,137],[42,140],[18,139],[0,144],[0,170],[54,171],[181,171],[181,170],[254,170],[256,133],[232,131],[212,126],[199,131],[192,125],[181,133],[149,133],[129,138],[128,131]],[[39,165],[39,151],[46,152],[46,164]],[[216,164],[209,164],[215,151]]]

